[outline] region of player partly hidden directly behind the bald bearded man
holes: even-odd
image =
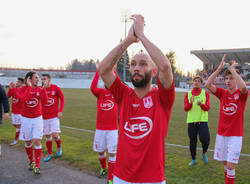
[[[97,67],[98,68],[98,64]],[[113,170],[116,161],[116,148],[118,141],[118,106],[113,95],[107,89],[98,88],[99,73],[96,72],[91,83],[90,90],[97,98],[97,118],[96,131],[93,144],[93,150],[98,152],[101,170],[99,177],[107,172],[108,161],[108,184],[113,181]]]

